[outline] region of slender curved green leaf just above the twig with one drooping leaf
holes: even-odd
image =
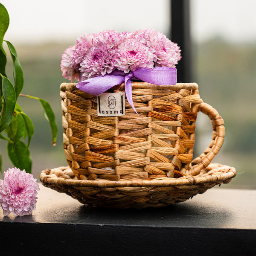
[[[17,100],[17,98],[23,88],[23,83],[24,83],[23,72],[22,72],[20,61],[18,60],[17,52],[16,52],[14,46],[9,41],[6,41],[6,43],[9,47],[10,53],[12,55],[13,78],[14,78],[14,87],[15,87],[16,100]]]

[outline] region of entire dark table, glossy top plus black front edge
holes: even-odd
[[[256,255],[256,190],[215,187],[168,207],[106,209],[40,189],[32,215],[0,212],[4,253]]]

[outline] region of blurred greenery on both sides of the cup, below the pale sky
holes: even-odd
[[[39,176],[43,169],[66,166],[62,148],[61,99],[59,86],[67,81],[60,70],[61,55],[73,43],[20,45],[17,49],[24,73],[23,93],[47,100],[58,124],[56,146],[51,143],[51,131],[43,118],[41,106],[33,99],[19,99],[23,111],[35,125],[31,141],[32,173]],[[225,122],[224,146],[213,162],[234,166],[237,176],[223,188],[256,189],[256,45],[230,44],[213,38],[192,49],[193,80],[199,85],[204,102],[212,105]],[[9,72],[12,72],[9,64]],[[198,116],[195,155],[211,140],[211,125],[203,114]],[[6,145],[1,142],[0,151]],[[3,154],[3,170],[12,167]]]

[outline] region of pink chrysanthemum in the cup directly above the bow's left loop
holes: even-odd
[[[83,79],[89,79],[93,76],[105,76],[111,73],[113,66],[113,51],[109,50],[106,44],[97,39],[96,43],[90,47],[80,64],[80,71]]]

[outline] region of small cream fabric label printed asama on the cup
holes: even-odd
[[[125,93],[102,93],[97,95],[98,116],[124,116]]]

